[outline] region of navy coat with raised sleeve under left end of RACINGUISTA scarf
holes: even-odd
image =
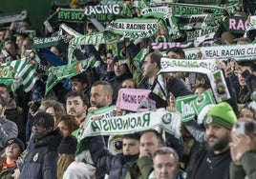
[[[139,157],[139,154],[123,155],[122,153],[119,153],[113,155],[106,148],[102,136],[92,137],[89,146],[92,159],[96,164],[97,178],[108,174],[110,179],[124,179],[129,169],[129,165],[134,163]]]

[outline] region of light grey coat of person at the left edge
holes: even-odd
[[[0,117],[0,150],[2,151],[8,139],[17,137],[18,135],[18,128],[15,123],[8,120],[6,116]]]

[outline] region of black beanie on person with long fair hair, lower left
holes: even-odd
[[[58,153],[75,154],[77,139],[74,135],[64,137],[58,146]]]

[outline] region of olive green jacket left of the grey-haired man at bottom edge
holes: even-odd
[[[141,157],[134,163],[125,179],[147,179],[150,172],[153,170],[153,162],[149,156]]]

